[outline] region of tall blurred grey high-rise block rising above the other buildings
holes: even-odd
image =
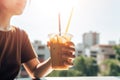
[[[99,44],[99,33],[92,31],[84,33],[83,44],[85,48],[90,48],[93,45]]]

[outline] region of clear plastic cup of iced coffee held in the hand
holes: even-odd
[[[62,46],[72,38],[71,34],[49,34],[50,39],[50,55],[52,68],[54,70],[68,70],[69,67],[64,65],[62,60]]]

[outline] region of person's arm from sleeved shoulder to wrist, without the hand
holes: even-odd
[[[51,68],[51,59],[40,63],[38,60],[37,53],[35,52],[27,33],[24,30],[20,31],[21,33],[21,63],[24,68],[31,76],[31,78],[35,77],[43,77],[49,74],[52,71]]]

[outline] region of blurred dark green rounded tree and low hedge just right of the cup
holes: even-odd
[[[69,70],[53,71],[48,76],[69,77],[69,76],[97,76],[98,66],[95,59],[88,57],[77,57],[74,66]]]

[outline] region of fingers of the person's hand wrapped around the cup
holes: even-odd
[[[64,65],[71,67],[73,66],[73,60],[75,58],[75,45],[73,42],[66,42],[62,46],[62,60],[64,60]]]

